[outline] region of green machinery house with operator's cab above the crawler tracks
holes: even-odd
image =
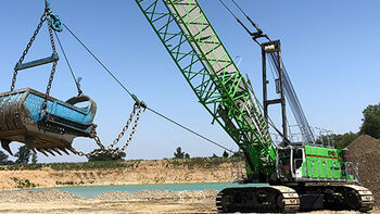
[[[288,146],[277,151],[277,179],[281,182],[358,181],[358,168],[347,149]]]

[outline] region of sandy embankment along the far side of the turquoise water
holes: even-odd
[[[130,185],[130,184],[180,184],[180,182],[228,182],[231,181],[230,164],[213,167],[173,164],[173,161],[125,162],[116,169],[55,171],[43,167],[37,171],[0,171],[0,190],[14,189],[17,180],[35,184],[37,187],[62,185]]]

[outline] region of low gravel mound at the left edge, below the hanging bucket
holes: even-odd
[[[60,190],[0,192],[0,202],[72,202],[77,200],[84,200],[84,198]]]

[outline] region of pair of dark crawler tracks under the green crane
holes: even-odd
[[[343,184],[301,186],[294,189],[286,186],[226,188],[216,197],[218,213],[292,213],[312,210],[368,212],[373,204],[373,196],[367,188]]]

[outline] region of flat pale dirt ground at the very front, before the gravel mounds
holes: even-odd
[[[182,201],[75,201],[34,202],[34,203],[0,203],[1,213],[216,213],[214,200],[182,200]],[[313,214],[356,214],[354,211],[316,211]],[[370,213],[380,213],[375,209]]]

